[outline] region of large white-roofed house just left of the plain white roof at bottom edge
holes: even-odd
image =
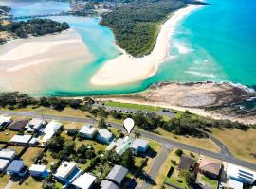
[[[82,174],[81,169],[74,162],[63,162],[53,175],[56,180],[64,184],[69,184],[76,180]]]

